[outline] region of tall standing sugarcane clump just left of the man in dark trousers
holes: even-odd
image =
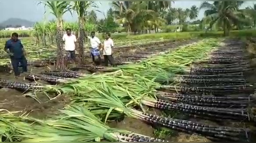
[[[40,4],[44,4],[45,7],[48,7],[51,14],[54,15],[57,19],[57,27],[56,27],[56,43],[57,43],[57,61],[56,61],[56,69],[60,69],[62,71],[66,70],[66,66],[63,56],[63,46],[62,46],[62,30],[63,30],[63,15],[70,11],[70,2],[68,1],[42,1]]]

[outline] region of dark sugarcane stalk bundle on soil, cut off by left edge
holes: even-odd
[[[28,91],[28,90],[39,90],[45,86],[41,86],[39,84],[26,83],[26,82],[12,82],[8,80],[0,80],[0,87]]]

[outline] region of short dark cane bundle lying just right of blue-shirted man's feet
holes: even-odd
[[[68,79],[65,79],[63,77],[55,77],[52,75],[35,75],[35,74],[29,74],[25,77],[25,79],[35,81],[35,80],[45,80],[47,82],[53,82],[53,83],[60,83],[60,82],[67,82]]]

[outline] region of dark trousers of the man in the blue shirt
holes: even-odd
[[[25,56],[22,56],[20,58],[11,57],[11,62],[12,62],[13,72],[14,72],[15,76],[20,75],[19,63],[22,66],[22,72],[28,72],[28,63],[27,63],[27,59]]]

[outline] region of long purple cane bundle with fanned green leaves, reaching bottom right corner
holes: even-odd
[[[228,128],[225,126],[210,126],[207,124],[193,123],[186,120],[170,119],[153,116],[150,114],[143,114],[143,112],[127,107],[127,98],[125,98],[125,96],[118,95],[118,93],[112,93],[109,89],[108,84],[103,84],[103,87],[104,88],[96,91],[97,94],[95,93],[93,94],[93,96],[87,94],[86,97],[84,96],[84,98],[82,99],[83,102],[86,102],[86,107],[88,107],[88,109],[91,109],[90,111],[93,114],[104,116],[105,114],[108,114],[109,109],[111,109],[112,117],[116,116],[116,114],[125,114],[128,117],[140,119],[141,121],[145,121],[146,123],[157,124],[186,133],[199,133],[200,135],[204,135],[207,137],[214,137],[214,139],[222,139],[222,141],[247,140],[245,132],[247,132],[248,134],[253,132],[248,129]],[[130,94],[130,96],[134,95]],[[144,101],[145,100],[143,100],[141,103],[143,103]],[[100,108],[95,109],[95,104],[99,105]]]

